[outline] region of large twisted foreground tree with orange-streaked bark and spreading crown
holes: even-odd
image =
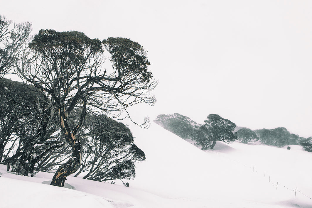
[[[59,124],[71,146],[70,159],[56,171],[51,185],[64,186],[66,177],[79,170],[82,147],[77,133],[88,112],[93,114],[123,110],[140,102],[153,105],[149,94],[157,81],[147,70],[146,51],[126,38],[103,41],[113,69],[101,69],[102,42],[82,32],[41,29],[29,44],[28,58],[17,64],[22,78],[41,89],[59,112]],[[77,114],[78,119],[70,119]],[[147,120],[146,120],[147,121]]]

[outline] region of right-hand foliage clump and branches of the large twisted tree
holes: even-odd
[[[147,51],[139,43],[127,38],[109,37],[102,43],[110,54],[113,72],[106,82],[96,82],[100,85],[100,89],[108,91],[124,110],[137,103],[153,105],[156,99],[150,91],[158,85],[158,82],[147,70],[150,65],[146,57]],[[128,117],[130,118],[129,114]],[[148,118],[145,118],[141,126],[145,127],[148,122]]]

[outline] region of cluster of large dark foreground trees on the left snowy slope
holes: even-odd
[[[27,83],[0,80],[0,163],[23,175],[56,170],[54,186],[72,173],[133,178],[145,154],[129,128],[108,116],[130,118],[127,107],[156,102],[146,51],[127,38],[100,41],[52,29],[31,38],[30,32],[30,23],[0,17],[0,75],[16,73]],[[105,50],[110,70],[102,68]]]

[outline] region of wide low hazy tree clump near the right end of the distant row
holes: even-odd
[[[276,147],[283,147],[285,145],[297,145],[299,136],[287,131],[284,127],[274,129],[258,129],[255,130],[261,143],[265,145],[272,145]]]

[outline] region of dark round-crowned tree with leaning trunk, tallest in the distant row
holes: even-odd
[[[213,149],[217,141],[232,143],[237,139],[236,135],[233,134],[235,127],[235,123],[228,119],[223,119],[217,114],[208,115],[204,125],[200,127],[207,139],[202,149]]]

